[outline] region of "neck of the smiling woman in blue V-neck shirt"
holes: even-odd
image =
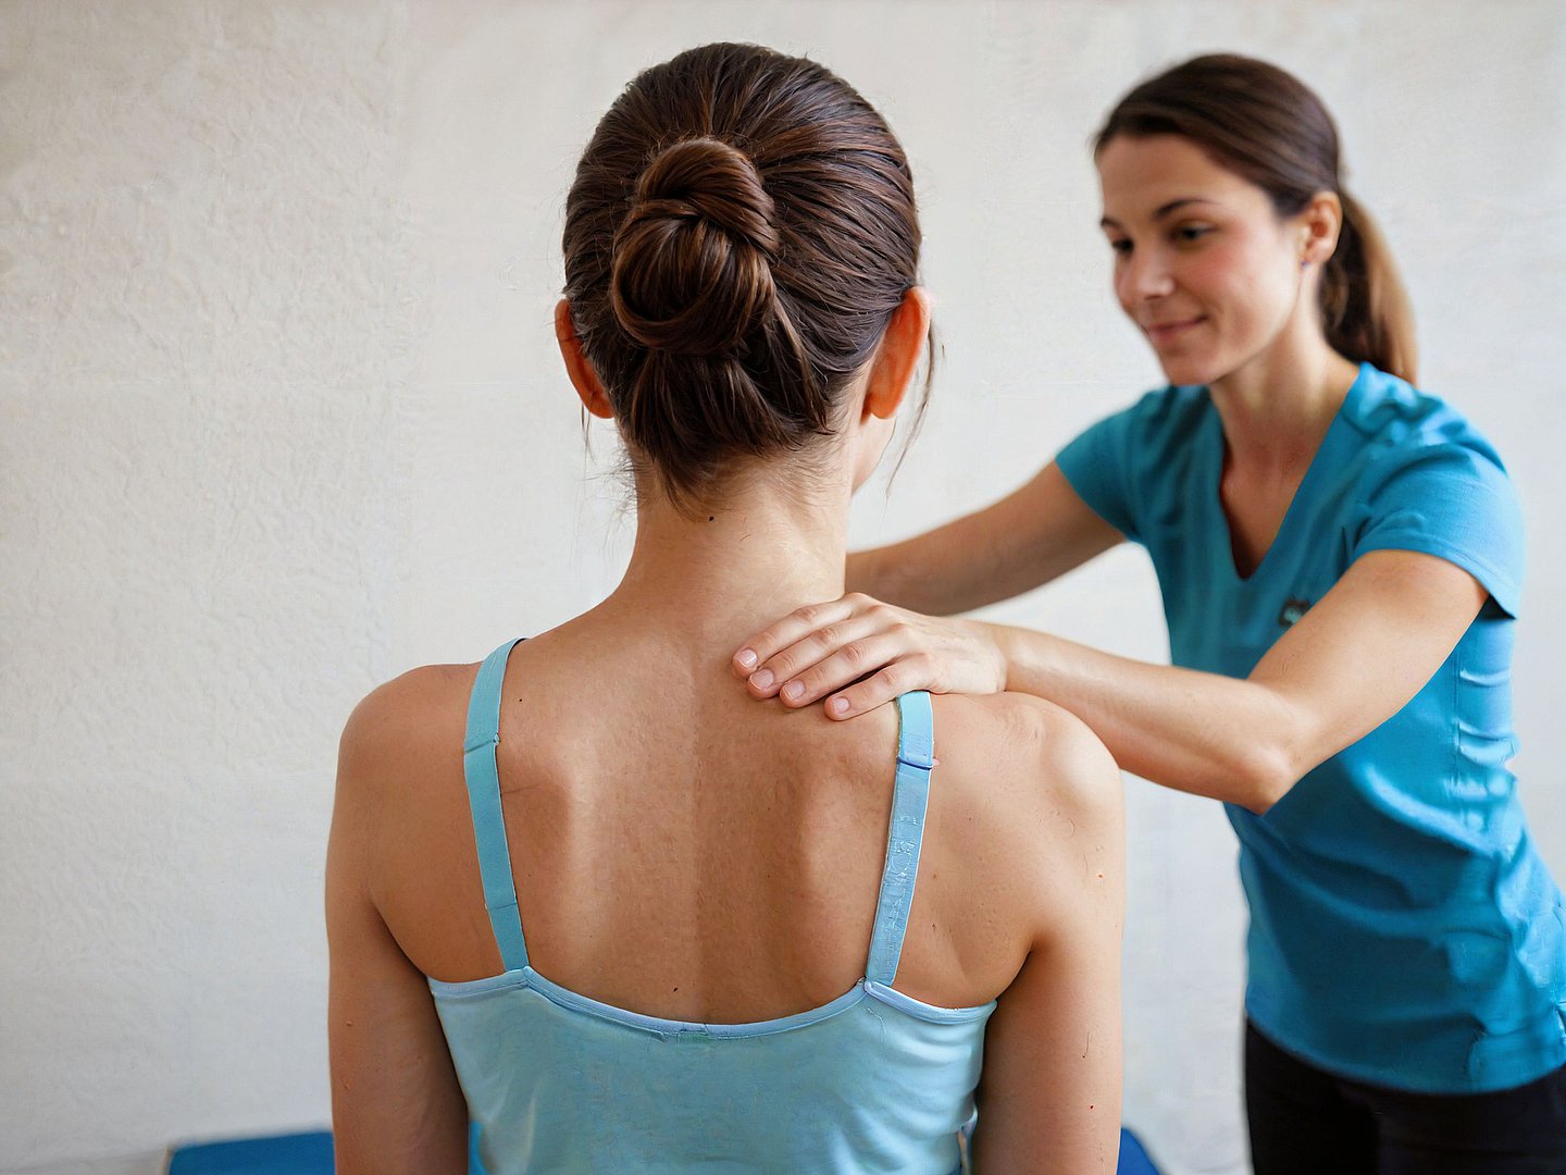
[[[1267,351],[1209,385],[1231,457],[1309,464],[1358,371],[1314,321],[1286,327]]]

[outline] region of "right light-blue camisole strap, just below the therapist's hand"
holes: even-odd
[[[924,691],[897,699],[897,779],[891,796],[891,832],[886,835],[886,868],[875,902],[871,959],[864,978],[891,985],[902,957],[902,937],[913,907],[913,882],[919,873],[924,813],[930,801],[930,768],[935,766],[935,716]]]

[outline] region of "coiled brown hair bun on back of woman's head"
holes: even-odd
[[[681,139],[642,171],[614,235],[614,316],[645,348],[736,351],[774,306],[772,197],[742,152]]]

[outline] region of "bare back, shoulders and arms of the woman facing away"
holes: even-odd
[[[832,722],[758,705],[722,672],[733,633],[692,641],[642,624],[645,608],[615,614],[606,603],[518,645],[504,674],[495,754],[532,968],[683,1021],[772,1020],[849,993],[886,862],[896,711]],[[474,677],[417,669],[343,733],[327,860],[334,1114],[340,1153],[363,1170],[462,1164],[467,1109],[426,976],[504,970],[464,780]],[[893,985],[946,1007],[998,1000],[974,1094],[979,1170],[1110,1172],[1115,765],[1077,719],[1027,696],[936,697],[933,730]]]

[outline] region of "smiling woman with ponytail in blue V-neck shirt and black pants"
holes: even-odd
[[[1115,293],[1170,385],[1009,498],[852,555],[756,633],[756,697],[1057,700],[1121,766],[1225,802],[1250,902],[1259,1175],[1566,1172],[1566,926],[1508,761],[1522,523],[1496,450],[1414,385],[1333,119],[1232,55],[1096,138]],[[1131,539],[1174,666],[943,619]]]

